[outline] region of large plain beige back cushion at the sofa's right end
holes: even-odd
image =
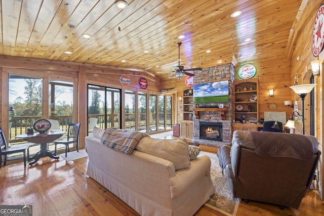
[[[163,140],[144,137],[136,146],[138,151],[171,161],[176,170],[190,166],[188,148],[188,141],[182,138]]]

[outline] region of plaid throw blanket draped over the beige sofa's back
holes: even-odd
[[[138,131],[108,127],[101,138],[101,143],[125,154],[132,154],[143,137],[149,137],[149,135]]]

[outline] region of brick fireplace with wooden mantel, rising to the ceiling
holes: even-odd
[[[231,122],[233,121],[232,109],[234,107],[234,103],[232,102],[234,81],[233,64],[228,63],[210,68],[204,68],[201,71],[197,71],[194,76],[194,84],[204,84],[225,80],[228,80],[229,102],[223,103],[224,109],[216,108],[220,103],[198,104],[199,107],[204,107],[204,109],[199,108],[194,111],[195,114],[193,116],[192,142],[218,147],[229,144],[231,142]],[[194,106],[197,107],[196,104],[194,104]],[[221,133],[219,136],[221,137],[221,139],[206,139],[204,137],[201,137],[201,123],[216,123],[217,125],[222,125],[222,129],[218,131],[218,133]],[[214,132],[214,135],[215,133],[217,132]]]

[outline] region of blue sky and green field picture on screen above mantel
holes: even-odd
[[[193,85],[193,103],[228,102],[228,80]]]

